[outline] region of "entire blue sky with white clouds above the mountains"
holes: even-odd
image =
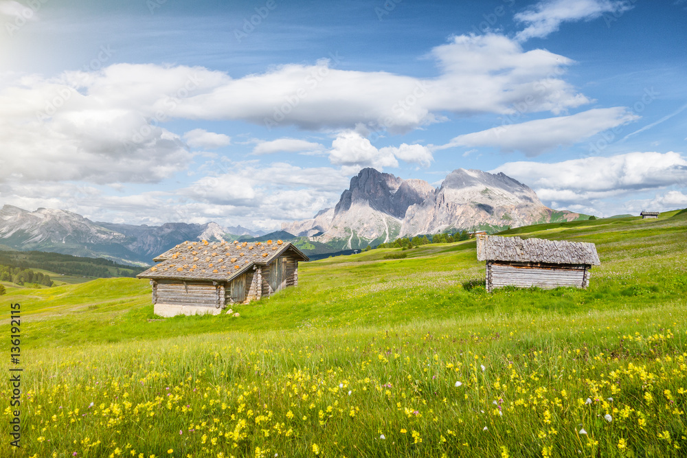
[[[687,207],[687,1],[0,0],[0,203],[274,229],[374,167]]]

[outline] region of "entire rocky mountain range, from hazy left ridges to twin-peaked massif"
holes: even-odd
[[[489,232],[537,222],[587,219],[543,205],[529,187],[503,173],[458,169],[440,187],[365,168],[352,177],[335,207],[314,218],[288,222],[267,233],[215,222],[167,222],[161,226],[91,221],[67,210],[0,209],[0,249],[51,251],[150,264],[155,255],[185,240],[282,238],[308,255],[361,249],[415,236],[464,230]],[[293,234],[293,235],[292,235]]]

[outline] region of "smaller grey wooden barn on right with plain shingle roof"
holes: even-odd
[[[508,285],[587,288],[589,271],[601,264],[593,243],[499,236],[477,237],[477,260],[486,261],[490,292]]]

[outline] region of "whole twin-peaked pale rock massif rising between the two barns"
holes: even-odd
[[[458,169],[435,190],[423,180],[403,180],[367,168],[351,179],[334,209],[282,229],[339,249],[357,249],[398,236],[495,231],[579,217],[546,207],[530,187],[503,173]]]

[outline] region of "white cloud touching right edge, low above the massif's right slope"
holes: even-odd
[[[687,158],[672,151],[629,152],[557,163],[509,162],[492,172],[504,172],[526,183],[542,201],[578,205],[672,185],[687,186]]]

